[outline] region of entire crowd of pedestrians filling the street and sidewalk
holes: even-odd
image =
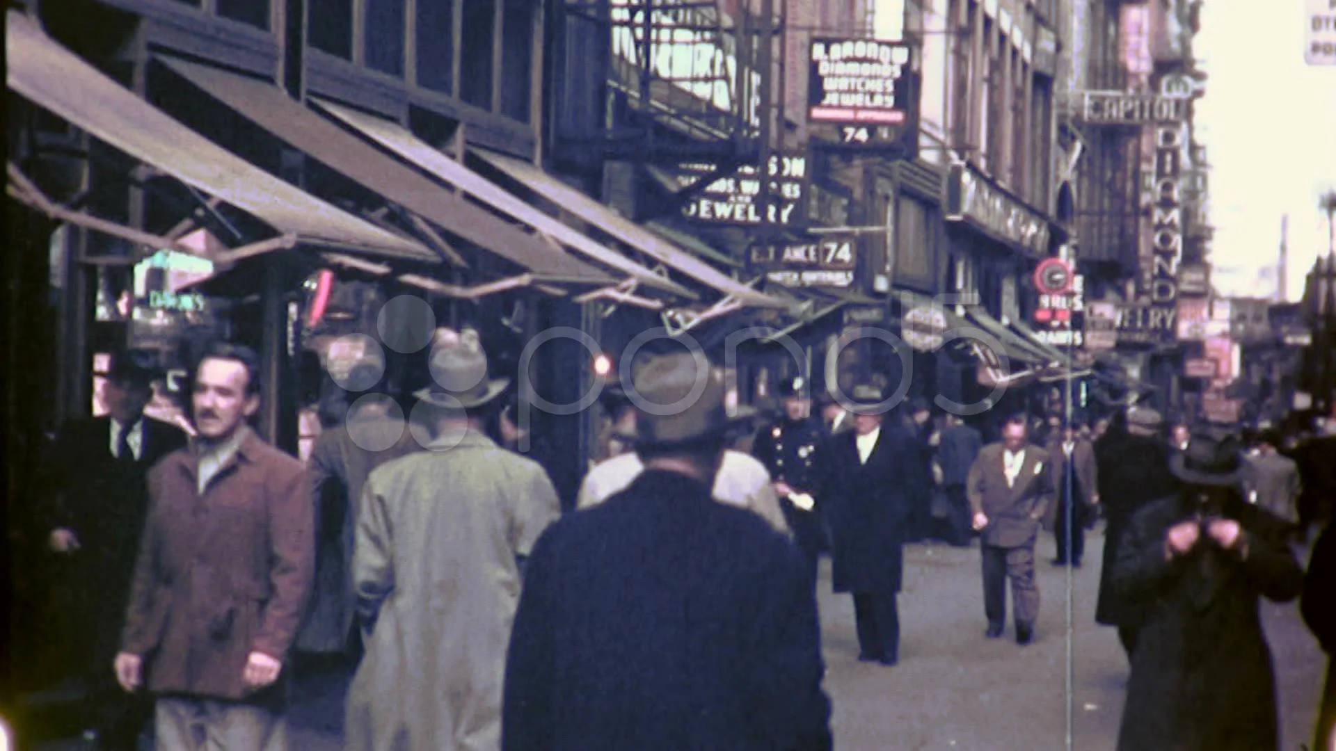
[[[110,414],[65,425],[40,476],[94,747],[151,726],[164,750],[283,750],[314,675],[350,680],[349,750],[831,748],[822,556],[859,660],[890,667],[906,544],[977,548],[982,636],[1006,633],[1010,585],[1023,647],[1045,532],[1053,565],[1081,567],[1101,518],[1094,617],[1130,663],[1120,750],[1277,747],[1264,597],[1301,597],[1336,647],[1329,531],[1300,564],[1336,497],[1324,440],[1133,406],[1011,416],[985,444],[922,401],[886,412],[882,382],[834,398],[803,377],[762,420],[680,353],[607,390],[581,470],[553,458],[566,438],[526,433],[474,331],[437,330],[429,371],[407,428],[358,402],[303,464],[248,426],[246,347],[200,359],[192,437],[144,417],[160,373],[118,353]]]

